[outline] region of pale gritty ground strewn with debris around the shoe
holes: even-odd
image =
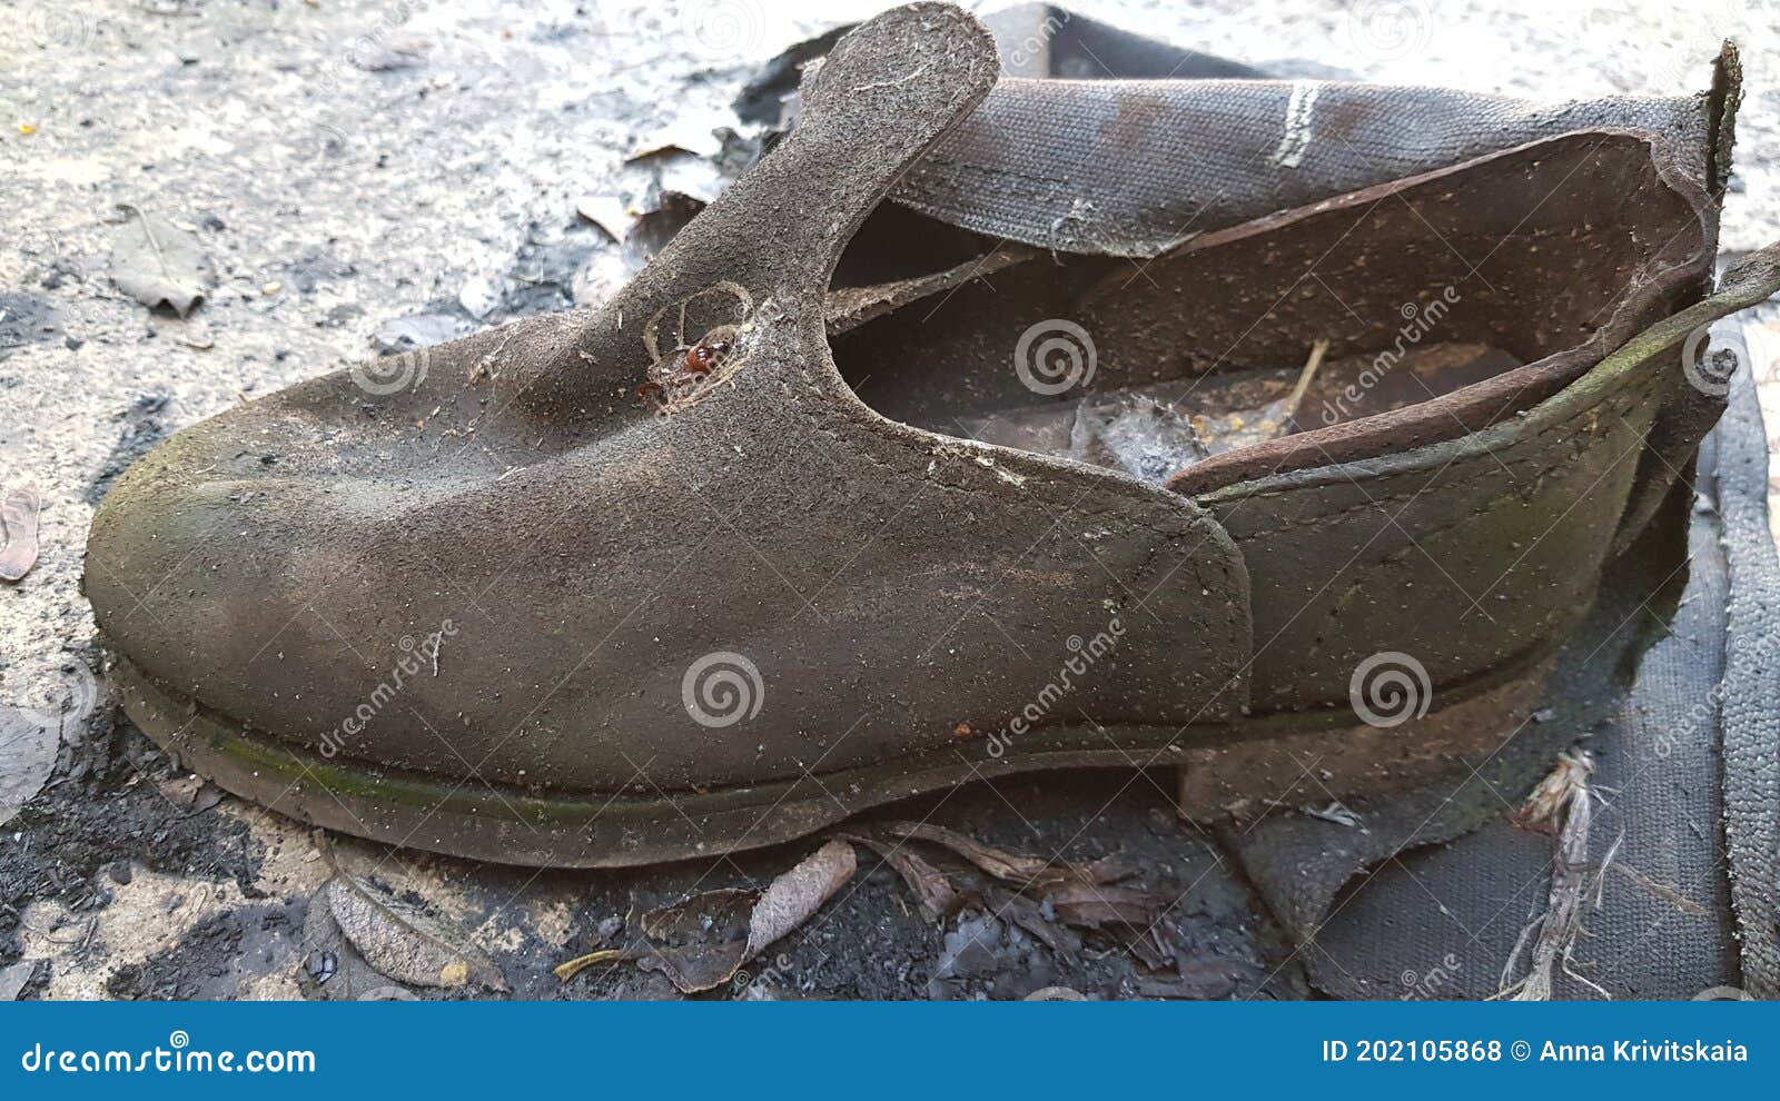
[[[473,975],[422,985],[372,969],[322,893],[349,864],[486,955],[511,996],[675,998],[662,971],[628,960],[570,980],[554,968],[634,943],[641,914],[689,893],[764,889],[817,850],[564,873],[312,834],[194,784],[116,713],[93,678],[80,551],[110,482],[185,425],[379,352],[600,301],[648,235],[618,244],[578,213],[607,206],[589,196],[648,208],[664,187],[717,185],[703,155],[627,153],[669,128],[716,153],[712,128],[737,126],[728,105],[764,60],[878,7],[740,4],[737,37],[712,43],[676,4],[621,0],[0,0],[14,76],[0,82],[0,235],[14,245],[0,251],[0,491],[34,487],[43,509],[36,569],[0,585],[0,706],[62,731],[48,783],[0,825],[0,991],[493,993]],[[1606,0],[1577,16],[1481,0],[1123,0],[1088,14],[1278,71],[1545,100],[1693,89],[1734,34],[1750,96],[1725,245],[1780,237],[1780,21],[1762,4]],[[139,212],[206,260],[187,317],[112,279]],[[1780,407],[1771,361],[1762,382]],[[1153,923],[1072,925],[929,847],[967,896],[931,920],[858,845],[838,895],[700,996],[1307,996],[1278,930],[1166,790],[1146,774],[1032,777],[874,816],[1050,861],[1120,856],[1137,870],[1121,889],[1166,900]]]

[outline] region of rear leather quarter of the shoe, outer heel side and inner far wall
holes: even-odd
[[[1566,135],[1207,235],[1141,274],[1123,261],[1018,265],[910,311],[918,324],[862,325],[837,354],[856,379],[906,379],[867,391],[886,414],[956,430],[963,409],[1047,400],[995,365],[1047,317],[1093,334],[1089,393],[1173,377],[1191,398],[1200,379],[1298,363],[1315,340],[1337,356],[1388,347],[1392,324],[1440,288],[1460,292],[1429,340],[1502,347],[1525,366],[1228,452],[1171,482],[1242,548],[1255,706],[1333,704],[1369,655],[1412,653],[1435,683],[1456,683],[1574,624],[1632,487],[1663,470],[1646,459],[1659,409],[1693,393],[1679,370],[1687,329],[1639,338],[1638,363],[1598,365],[1696,301],[1714,224],[1666,142]],[[1686,462],[1709,423],[1693,422],[1661,462]]]

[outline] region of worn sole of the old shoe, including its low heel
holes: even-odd
[[[1059,727],[1020,745],[974,736],[885,765],[678,795],[538,795],[329,759],[249,733],[128,658],[116,656],[110,676],[130,719],[185,767],[299,822],[502,864],[621,868],[762,848],[899,799],[1024,772],[1178,767],[1182,813],[1196,820],[1241,815],[1250,802],[1264,811],[1285,797],[1408,790],[1493,752],[1540,706],[1547,671],[1549,658],[1529,656],[1472,685],[1440,687],[1438,710],[1394,727],[1355,726],[1347,710],[1219,727]],[[1307,779],[1314,786],[1294,793]]]

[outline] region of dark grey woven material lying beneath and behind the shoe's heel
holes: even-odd
[[[1323,993],[1497,994],[1515,941],[1545,905],[1554,856],[1554,838],[1517,825],[1513,809],[1552,752],[1582,745],[1602,793],[1590,845],[1602,882],[1575,969],[1614,998],[1687,1000],[1718,985],[1775,996],[1766,824],[1780,806],[1780,685],[1769,660],[1780,571],[1766,470],[1755,388],[1741,374],[1730,413],[1700,452],[1698,494],[1677,486],[1643,541],[1609,569],[1607,614],[1597,619],[1616,631],[1582,653],[1598,676],[1616,662],[1625,669],[1623,658],[1604,658],[1632,635],[1650,639],[1623,701],[1572,674],[1549,692],[1545,722],[1504,742],[1501,756],[1520,758],[1518,772],[1486,768],[1493,793],[1461,776],[1358,808],[1367,834],[1285,815],[1242,836],[1244,868],[1294,923],[1298,959]],[[1686,559],[1677,555],[1682,528]],[[1598,722],[1575,706],[1597,692],[1609,701],[1593,708]],[[1445,841],[1465,816],[1476,832]],[[1559,973],[1556,996],[1598,993]]]

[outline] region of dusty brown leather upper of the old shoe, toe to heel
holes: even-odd
[[[1428,637],[1431,612],[1431,672],[1463,681],[1588,599],[1650,473],[1645,436],[1684,398],[1671,359],[1689,329],[1636,334],[1698,297],[1709,263],[1703,196],[1639,167],[1646,137],[1606,135],[1622,160],[1600,164],[1673,224],[1693,219],[1693,237],[1613,260],[1630,290],[1595,304],[1632,308],[1607,309],[1611,324],[1550,315],[1575,331],[1533,345],[1586,350],[1490,397],[1501,414],[1520,395],[1525,416],[1460,413],[1445,438],[1362,422],[1162,489],[899,423],[835,366],[824,292],[842,247],[993,80],[993,44],[959,11],[879,16],[810,76],[796,132],[605,308],[409,352],[370,386],[336,372],[187,429],[94,518],[85,589],[103,633],[169,690],[294,745],[376,701],[345,758],[541,790],[643,776],[689,790],[1000,726],[1114,621],[1116,647],[1047,722],[1216,729],[1339,701],[1355,656]],[[1465,180],[1522,167],[1380,201],[1444,224]],[[1333,215],[1299,215],[1315,217]],[[1312,240],[1262,226],[1241,247],[1287,265],[1280,251]],[[1381,240],[1378,254],[1396,247]],[[1203,293],[1205,249],[1161,265],[1161,285]],[[1762,272],[1732,297],[1771,290]],[[1499,313],[1570,276],[1506,286]],[[1390,279],[1380,293],[1401,297]],[[651,363],[717,329],[733,342],[721,382],[668,414],[637,402]],[[1141,347],[1141,325],[1125,329]],[[990,347],[1006,363],[1011,343]],[[920,404],[943,363],[899,356],[883,370],[906,370]],[[1449,582],[1483,614],[1461,621],[1472,601]],[[427,637],[436,669],[379,692]],[[746,656],[764,685],[758,713],[728,727],[684,699],[714,653]]]

